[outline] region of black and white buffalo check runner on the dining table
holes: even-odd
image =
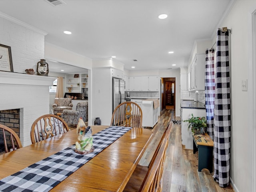
[[[93,137],[94,151],[89,154],[77,154],[72,145],[23,170],[0,180],[1,192],[47,192],[86,164],[131,127],[111,126]]]

